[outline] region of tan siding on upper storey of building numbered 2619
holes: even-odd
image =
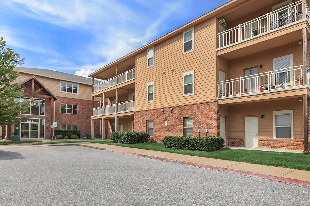
[[[23,82],[24,80],[32,77],[33,74],[26,74],[26,73],[20,73],[20,76],[16,79],[19,82]],[[54,79],[54,78],[47,78],[42,76],[35,77],[44,85],[47,87],[48,90],[50,90],[56,97],[68,97],[68,98],[75,98],[75,99],[85,99],[85,100],[91,100],[91,92],[92,92],[92,86],[78,83],[78,94],[72,94],[72,93],[66,93],[66,92],[60,92],[60,82],[62,80]],[[69,82],[69,81],[64,81]],[[75,82],[70,82],[75,83]],[[99,98],[95,98],[98,99]]]

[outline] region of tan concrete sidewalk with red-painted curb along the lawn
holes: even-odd
[[[33,143],[30,143],[33,144]],[[166,162],[174,162],[179,164],[186,164],[191,166],[198,166],[212,170],[220,170],[229,173],[242,174],[252,177],[277,180],[281,182],[294,183],[310,187],[310,171],[295,170],[290,168],[282,168],[275,166],[266,166],[251,164],[245,162],[234,162],[229,160],[221,160],[214,158],[204,158],[198,156],[176,154],[169,152],[160,152],[147,149],[137,149],[130,147],[122,147],[115,145],[106,145],[99,143],[81,142],[81,143],[60,143],[49,145],[27,145],[22,144],[25,147],[42,147],[42,146],[61,146],[61,145],[78,145],[91,147],[95,149],[103,149],[112,152],[136,155],[145,158],[157,159]],[[22,146],[16,145],[18,147]],[[4,145],[1,147],[13,147],[13,145]]]

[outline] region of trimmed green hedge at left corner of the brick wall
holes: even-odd
[[[111,132],[111,141],[114,143],[145,143],[150,135],[147,132]]]

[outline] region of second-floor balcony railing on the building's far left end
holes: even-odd
[[[117,108],[117,112],[116,112]],[[118,104],[109,104],[104,107],[93,108],[93,116],[103,116],[117,114],[128,111],[135,111],[135,100],[126,101]]]

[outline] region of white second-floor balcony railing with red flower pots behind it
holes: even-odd
[[[217,83],[217,97],[234,97],[247,94],[260,94],[264,91],[278,91],[285,88],[309,86],[309,69],[307,79],[303,78],[303,66],[268,71],[260,74],[229,79]]]

